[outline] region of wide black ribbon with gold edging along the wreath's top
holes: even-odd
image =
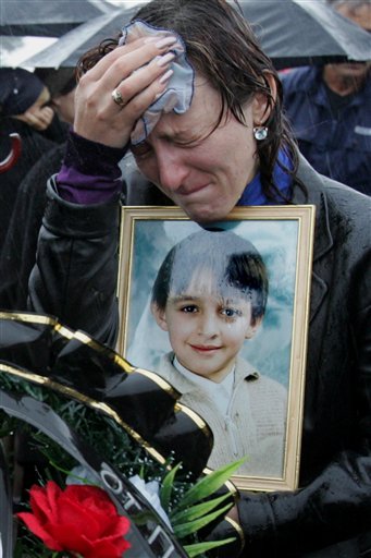
[[[178,404],[181,395],[160,376],[135,368],[86,333],[50,316],[2,312],[0,363],[48,378],[71,398],[102,404],[146,447],[163,460],[172,454],[195,478],[205,469],[213,437],[203,420]]]

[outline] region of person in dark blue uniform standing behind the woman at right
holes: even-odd
[[[371,0],[326,0],[371,32]],[[316,170],[371,195],[370,62],[292,70],[282,75],[284,107],[300,151]]]

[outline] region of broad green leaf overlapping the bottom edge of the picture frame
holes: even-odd
[[[233,473],[244,463],[244,459],[239,459],[234,463],[230,463],[218,471],[206,475],[203,478],[198,481],[184,495],[182,500],[178,502],[177,508],[183,509],[193,504],[207,498],[215,490],[218,490],[223,484],[233,475]]]

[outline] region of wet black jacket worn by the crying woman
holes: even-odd
[[[294,203],[317,206],[300,488],[245,493],[246,558],[371,555],[371,201],[300,158]],[[135,190],[128,189],[135,203]],[[29,308],[113,345],[119,205],[49,184]],[[141,195],[140,203],[148,203]],[[151,201],[153,203],[153,199]],[[82,296],[84,293],[84,296]]]

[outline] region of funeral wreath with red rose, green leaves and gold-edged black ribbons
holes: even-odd
[[[236,556],[237,525],[209,535],[240,462],[206,468],[211,432],[178,398],[54,318],[0,313],[0,558]]]

